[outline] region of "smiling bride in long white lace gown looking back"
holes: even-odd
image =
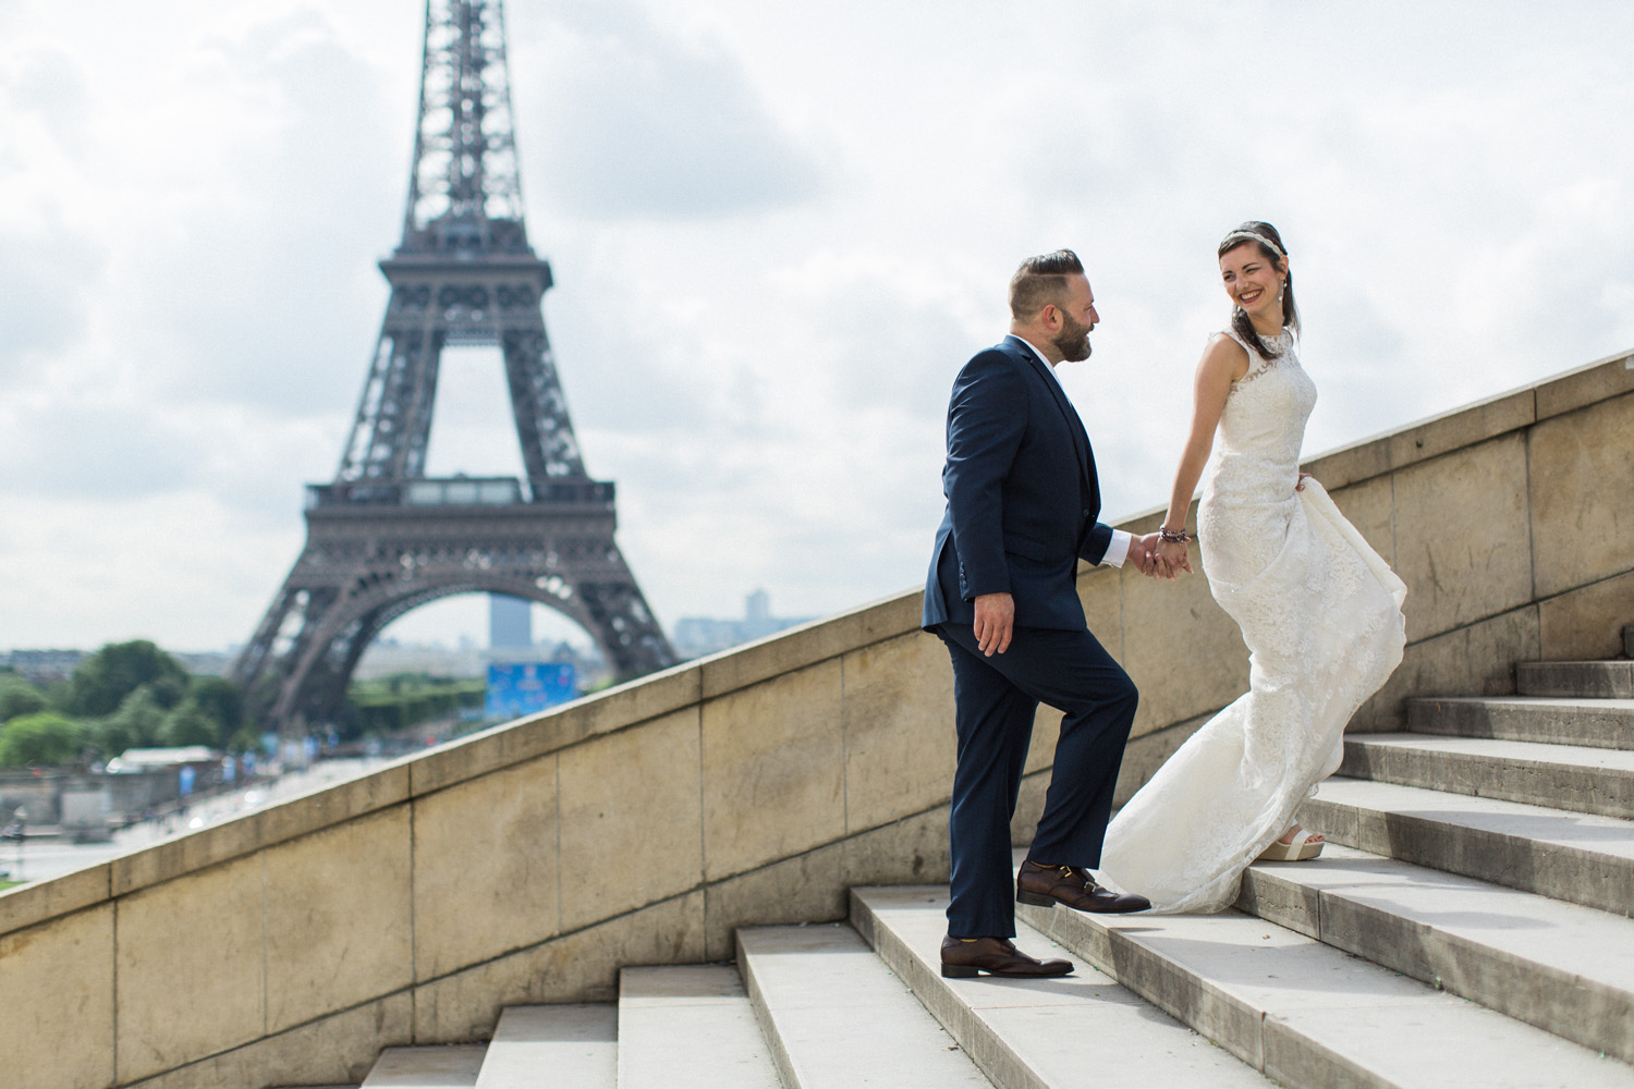
[[[1248,692],[1214,715],[1106,829],[1100,872],[1154,911],[1219,911],[1257,857],[1307,859],[1322,838],[1294,810],[1343,753],[1345,723],[1402,660],[1407,588],[1299,472],[1315,385],[1294,353],[1299,312],[1288,248],[1247,222],[1219,245],[1235,310],[1198,364],[1159,568],[1190,571],[1186,511],[1214,599],[1248,645]]]

